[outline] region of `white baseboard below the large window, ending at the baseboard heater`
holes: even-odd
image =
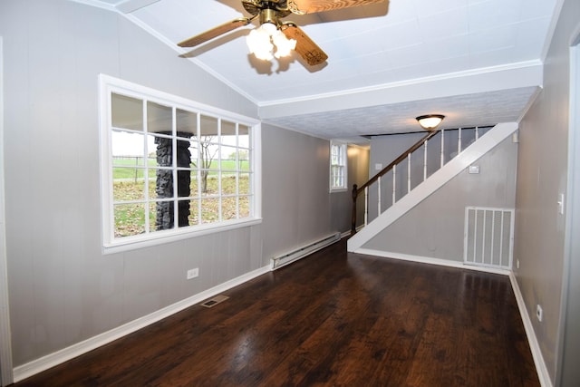
[[[96,349],[102,345],[107,343],[111,343],[117,339],[120,339],[127,334],[132,334],[141,328],[144,328],[150,324],[154,324],[159,322],[160,320],[169,317],[171,314],[176,314],[189,306],[196,305],[201,301],[204,301],[214,295],[218,295],[219,293],[225,292],[228,289],[231,289],[234,286],[244,284],[245,282],[256,278],[257,276],[261,276],[266,274],[270,271],[270,266],[260,267],[254,271],[248,272],[242,276],[237,276],[229,281],[224,282],[223,284],[216,285],[214,287],[209,288],[197,295],[192,295],[184,300],[181,300],[173,305],[166,306],[161,308],[158,311],[153,312],[152,314],[144,315],[136,320],[133,320],[127,324],[122,324],[117,328],[111,329],[111,331],[104,332],[102,334],[97,334],[87,340],[84,340],[80,343],[74,343],[71,346],[63,348],[60,351],[47,354],[39,359],[36,359],[30,363],[25,363],[23,365],[19,365],[14,367],[13,374],[14,374],[14,382],[20,382],[30,376],[38,372],[43,372],[52,368],[55,365],[67,362],[77,356],[80,356],[84,353],[88,353],[93,349]]]

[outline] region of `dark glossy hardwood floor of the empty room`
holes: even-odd
[[[507,276],[345,250],[15,386],[539,386]]]

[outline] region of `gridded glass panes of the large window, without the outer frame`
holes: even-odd
[[[111,92],[113,239],[251,218],[251,127]]]

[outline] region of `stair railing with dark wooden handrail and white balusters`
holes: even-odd
[[[471,127],[475,130],[475,140],[479,138],[479,128],[478,127]],[[485,129],[489,129],[489,127],[484,127]],[[447,130],[449,131],[449,130]],[[463,149],[461,145],[461,128],[458,130],[458,148],[457,154],[459,154]],[[423,147],[423,181],[427,179],[427,144],[429,140],[434,137],[436,134],[441,134],[441,150],[440,150],[440,167],[443,167],[445,164],[445,153],[444,153],[444,144],[445,144],[445,131],[430,131],[426,136],[422,139],[411,145],[408,150],[405,150],[401,153],[401,155],[393,160],[389,165],[385,168],[381,169],[376,175],[374,175],[369,181],[362,184],[361,188],[359,188],[356,184],[353,185],[353,215],[351,220],[351,235],[356,233],[356,220],[357,220],[357,208],[356,202],[359,196],[364,193],[364,226],[368,224],[368,217],[369,217],[369,189],[372,187],[374,183],[377,186],[377,216],[382,214],[382,198],[381,198],[381,180],[382,177],[392,170],[392,204],[397,201],[396,198],[396,183],[395,180],[397,179],[397,166],[403,160],[407,160],[407,193],[411,191],[411,154],[415,150],[419,150],[420,147]]]

